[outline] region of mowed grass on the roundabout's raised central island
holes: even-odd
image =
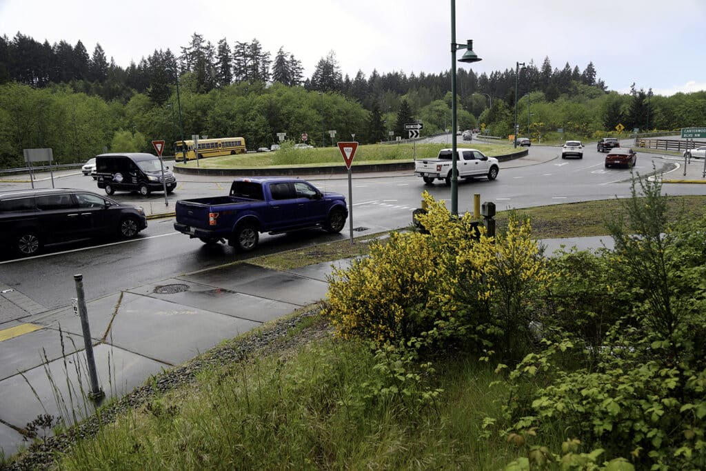
[[[352,167],[361,164],[376,164],[388,162],[412,162],[417,159],[436,157],[438,151],[450,148],[450,144],[372,144],[359,145],[356,150]],[[524,149],[514,149],[507,144],[461,143],[458,148],[474,148],[490,157],[523,152]],[[198,167],[209,169],[252,169],[262,167],[321,167],[342,166],[343,157],[337,147],[294,149],[283,147],[275,152],[225,155],[200,159]],[[177,166],[184,166],[177,162]],[[186,167],[196,167],[196,160],[186,163]]]

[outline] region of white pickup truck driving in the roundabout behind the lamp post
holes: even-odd
[[[476,149],[456,149],[456,169],[459,178],[487,177],[494,180],[498,177],[500,167],[498,159],[486,157]],[[453,150],[441,149],[436,159],[420,159],[414,162],[414,174],[424,179],[424,183],[433,184],[434,180],[444,180],[451,184],[451,169]]]

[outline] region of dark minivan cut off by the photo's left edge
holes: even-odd
[[[0,246],[20,255],[46,244],[97,236],[135,237],[147,227],[143,208],[90,191],[26,189],[0,191]]]

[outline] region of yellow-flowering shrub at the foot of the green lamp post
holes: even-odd
[[[423,197],[427,210],[417,218],[428,233],[394,233],[335,270],[324,314],[342,338],[378,345],[466,338],[479,350],[513,350],[551,278],[529,221],[510,220],[505,234],[488,237],[469,214],[451,215],[444,201]]]

